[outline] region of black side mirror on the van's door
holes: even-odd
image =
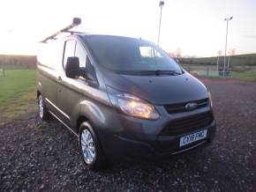
[[[65,74],[67,78],[75,78],[80,74],[79,68],[79,57],[70,56],[67,58],[67,63],[65,66]]]

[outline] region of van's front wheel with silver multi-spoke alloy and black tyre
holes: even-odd
[[[106,158],[92,126],[83,122],[79,127],[79,151],[90,170],[99,171],[106,166]]]

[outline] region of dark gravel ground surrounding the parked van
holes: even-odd
[[[26,114],[0,127],[0,191],[256,191],[256,82],[202,81],[217,120],[211,145],[169,161],[120,162],[94,173],[69,130]]]

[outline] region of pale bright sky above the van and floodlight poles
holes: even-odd
[[[36,54],[37,42],[82,18],[76,30],[141,37],[157,42],[157,0],[6,0],[0,11],[0,54]],[[224,50],[256,53],[256,0],[166,0],[160,45],[168,52],[210,56]]]

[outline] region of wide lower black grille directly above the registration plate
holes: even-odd
[[[214,116],[211,112],[203,114],[195,114],[169,122],[161,135],[179,135],[196,129],[204,129],[214,121]]]

